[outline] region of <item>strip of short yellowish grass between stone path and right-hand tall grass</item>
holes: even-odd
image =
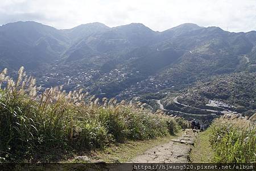
[[[209,142],[209,130],[200,132],[199,137],[195,141],[195,146],[191,151],[191,162],[212,162],[213,151]]]

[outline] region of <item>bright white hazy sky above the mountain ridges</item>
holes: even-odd
[[[34,20],[56,28],[143,23],[163,31],[182,23],[256,30],[256,0],[0,0],[0,25]]]

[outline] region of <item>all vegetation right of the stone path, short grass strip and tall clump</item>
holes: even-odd
[[[191,162],[255,162],[256,128],[252,125],[245,119],[215,119],[196,139]]]

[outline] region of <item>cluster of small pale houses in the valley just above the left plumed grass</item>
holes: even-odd
[[[76,87],[84,87],[91,90],[94,82],[101,82],[101,86],[106,86],[109,82],[121,82],[129,77],[136,77],[140,72],[138,70],[127,68],[115,68],[108,73],[101,73],[94,68],[66,70],[65,68],[52,69],[43,76],[38,77],[38,84],[42,87],[51,87],[64,85],[66,90],[72,90]]]

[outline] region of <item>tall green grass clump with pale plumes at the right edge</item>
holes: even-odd
[[[256,128],[217,119],[210,126],[215,162],[256,162]]]

